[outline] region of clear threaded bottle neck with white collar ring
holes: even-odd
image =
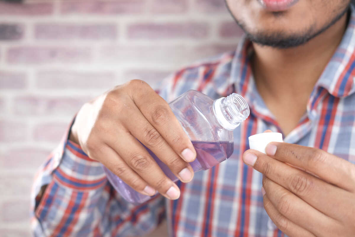
[[[213,112],[220,126],[227,130],[234,130],[250,114],[247,102],[236,93],[216,99]]]

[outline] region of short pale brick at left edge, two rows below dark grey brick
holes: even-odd
[[[27,87],[24,72],[0,71],[0,89],[23,89]]]

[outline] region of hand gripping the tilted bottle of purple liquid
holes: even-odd
[[[196,151],[168,103],[144,81],[132,80],[84,104],[70,134],[90,158],[133,189],[178,199],[178,186],[137,139],[182,182],[191,181],[188,162],[195,160]]]

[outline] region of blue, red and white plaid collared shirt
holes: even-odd
[[[317,147],[355,163],[355,14],[342,42],[316,83],[307,112],[285,142]],[[159,94],[171,101],[190,89],[219,98],[236,92],[249,103],[250,117],[234,130],[234,153],[226,161],[178,182],[181,196],[157,196],[133,205],[105,177],[102,165],[67,140],[40,167],[32,190],[36,236],[141,236],[167,219],[170,236],[283,236],[263,208],[262,174],[246,166],[248,137],[280,131],[257,92],[250,67],[252,44],[184,68],[163,82]],[[301,70],[301,69],[300,69]],[[42,199],[36,195],[48,185]]]

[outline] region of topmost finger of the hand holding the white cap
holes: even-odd
[[[320,149],[285,142],[270,142],[265,151],[268,156],[316,174],[328,183],[348,191],[355,190],[355,165],[342,158]]]

